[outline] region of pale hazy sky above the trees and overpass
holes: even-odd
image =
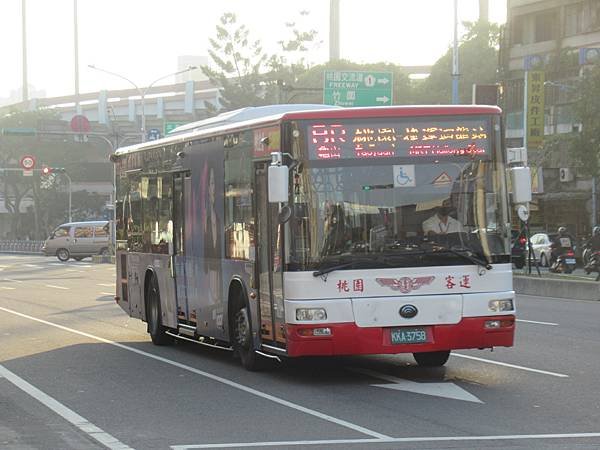
[[[0,100],[22,84],[21,2],[0,0]],[[504,23],[506,0],[489,2],[490,20]],[[28,81],[46,96],[75,92],[73,4],[74,0],[26,0]],[[433,64],[452,44],[453,4],[341,0],[340,56],[361,63]],[[458,0],[458,5],[460,22],[477,19],[477,0]],[[77,0],[77,9],[82,93],[131,87],[89,69],[89,64],[143,88],[175,72],[178,56],[207,55],[208,39],[215,36],[215,25],[225,12],[236,13],[238,23],[271,53],[287,36],[284,24],[297,21],[303,29],[316,29],[323,41],[308,60],[319,64],[329,56],[329,0]],[[310,14],[298,20],[301,10]],[[174,79],[159,84],[170,82]]]

